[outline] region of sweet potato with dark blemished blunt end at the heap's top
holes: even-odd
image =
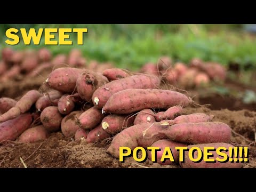
[[[76,88],[79,96],[85,101],[92,99],[92,94],[98,87],[109,83],[107,77],[100,73],[85,70],[77,79]]]

